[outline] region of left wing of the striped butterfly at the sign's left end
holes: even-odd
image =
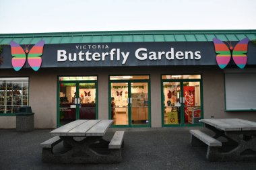
[[[16,42],[11,41],[11,65],[15,71],[19,71],[22,69],[26,62],[26,53],[24,52],[23,48],[17,44]]]

